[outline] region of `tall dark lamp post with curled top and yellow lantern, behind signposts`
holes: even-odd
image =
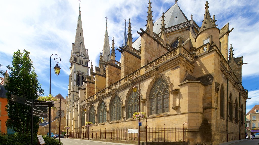
[[[51,54],[52,56],[53,54]],[[57,55],[57,54],[54,54]],[[51,56],[50,56],[50,66],[49,66],[49,95],[51,95]],[[57,55],[59,57],[59,55]],[[61,58],[59,57],[60,61],[56,61],[56,59],[58,58],[54,58],[56,63],[59,63],[61,61]],[[55,70],[55,74],[59,75],[60,73],[60,67],[58,64],[55,65],[54,70]],[[51,107],[49,107],[49,137],[51,137]]]

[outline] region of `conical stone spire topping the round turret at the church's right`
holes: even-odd
[[[208,29],[208,28],[216,28],[211,20],[210,11],[208,9],[209,8],[208,4],[209,4],[208,1],[206,1],[204,19],[203,19],[202,27],[200,28],[199,33],[201,33],[203,30]]]

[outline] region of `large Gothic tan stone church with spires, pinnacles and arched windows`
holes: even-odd
[[[110,50],[106,22],[103,50],[95,67],[88,55],[91,50],[85,48],[79,7],[69,59],[69,136],[93,138],[96,134],[94,138],[106,139],[107,128],[138,129],[133,114],[140,111],[146,113],[141,131],[182,127],[181,138],[176,141],[215,145],[244,139],[248,91],[242,86],[243,57],[234,57],[232,44],[229,48],[228,37],[234,28],[229,30],[229,23],[217,28],[208,1],[202,26],[192,15],[190,20],[185,16],[177,0],[154,22],[150,0],[147,6],[146,28],[140,28],[134,42],[129,20],[127,33],[125,23],[123,46],[115,48],[112,38]],[[115,60],[115,49],[121,53],[120,61]],[[85,122],[93,123],[90,129]],[[104,129],[105,134],[101,131]],[[130,140],[126,133],[125,138],[118,135],[116,140]],[[165,131],[140,135],[141,142],[158,138],[170,142],[177,138],[167,136]]]

